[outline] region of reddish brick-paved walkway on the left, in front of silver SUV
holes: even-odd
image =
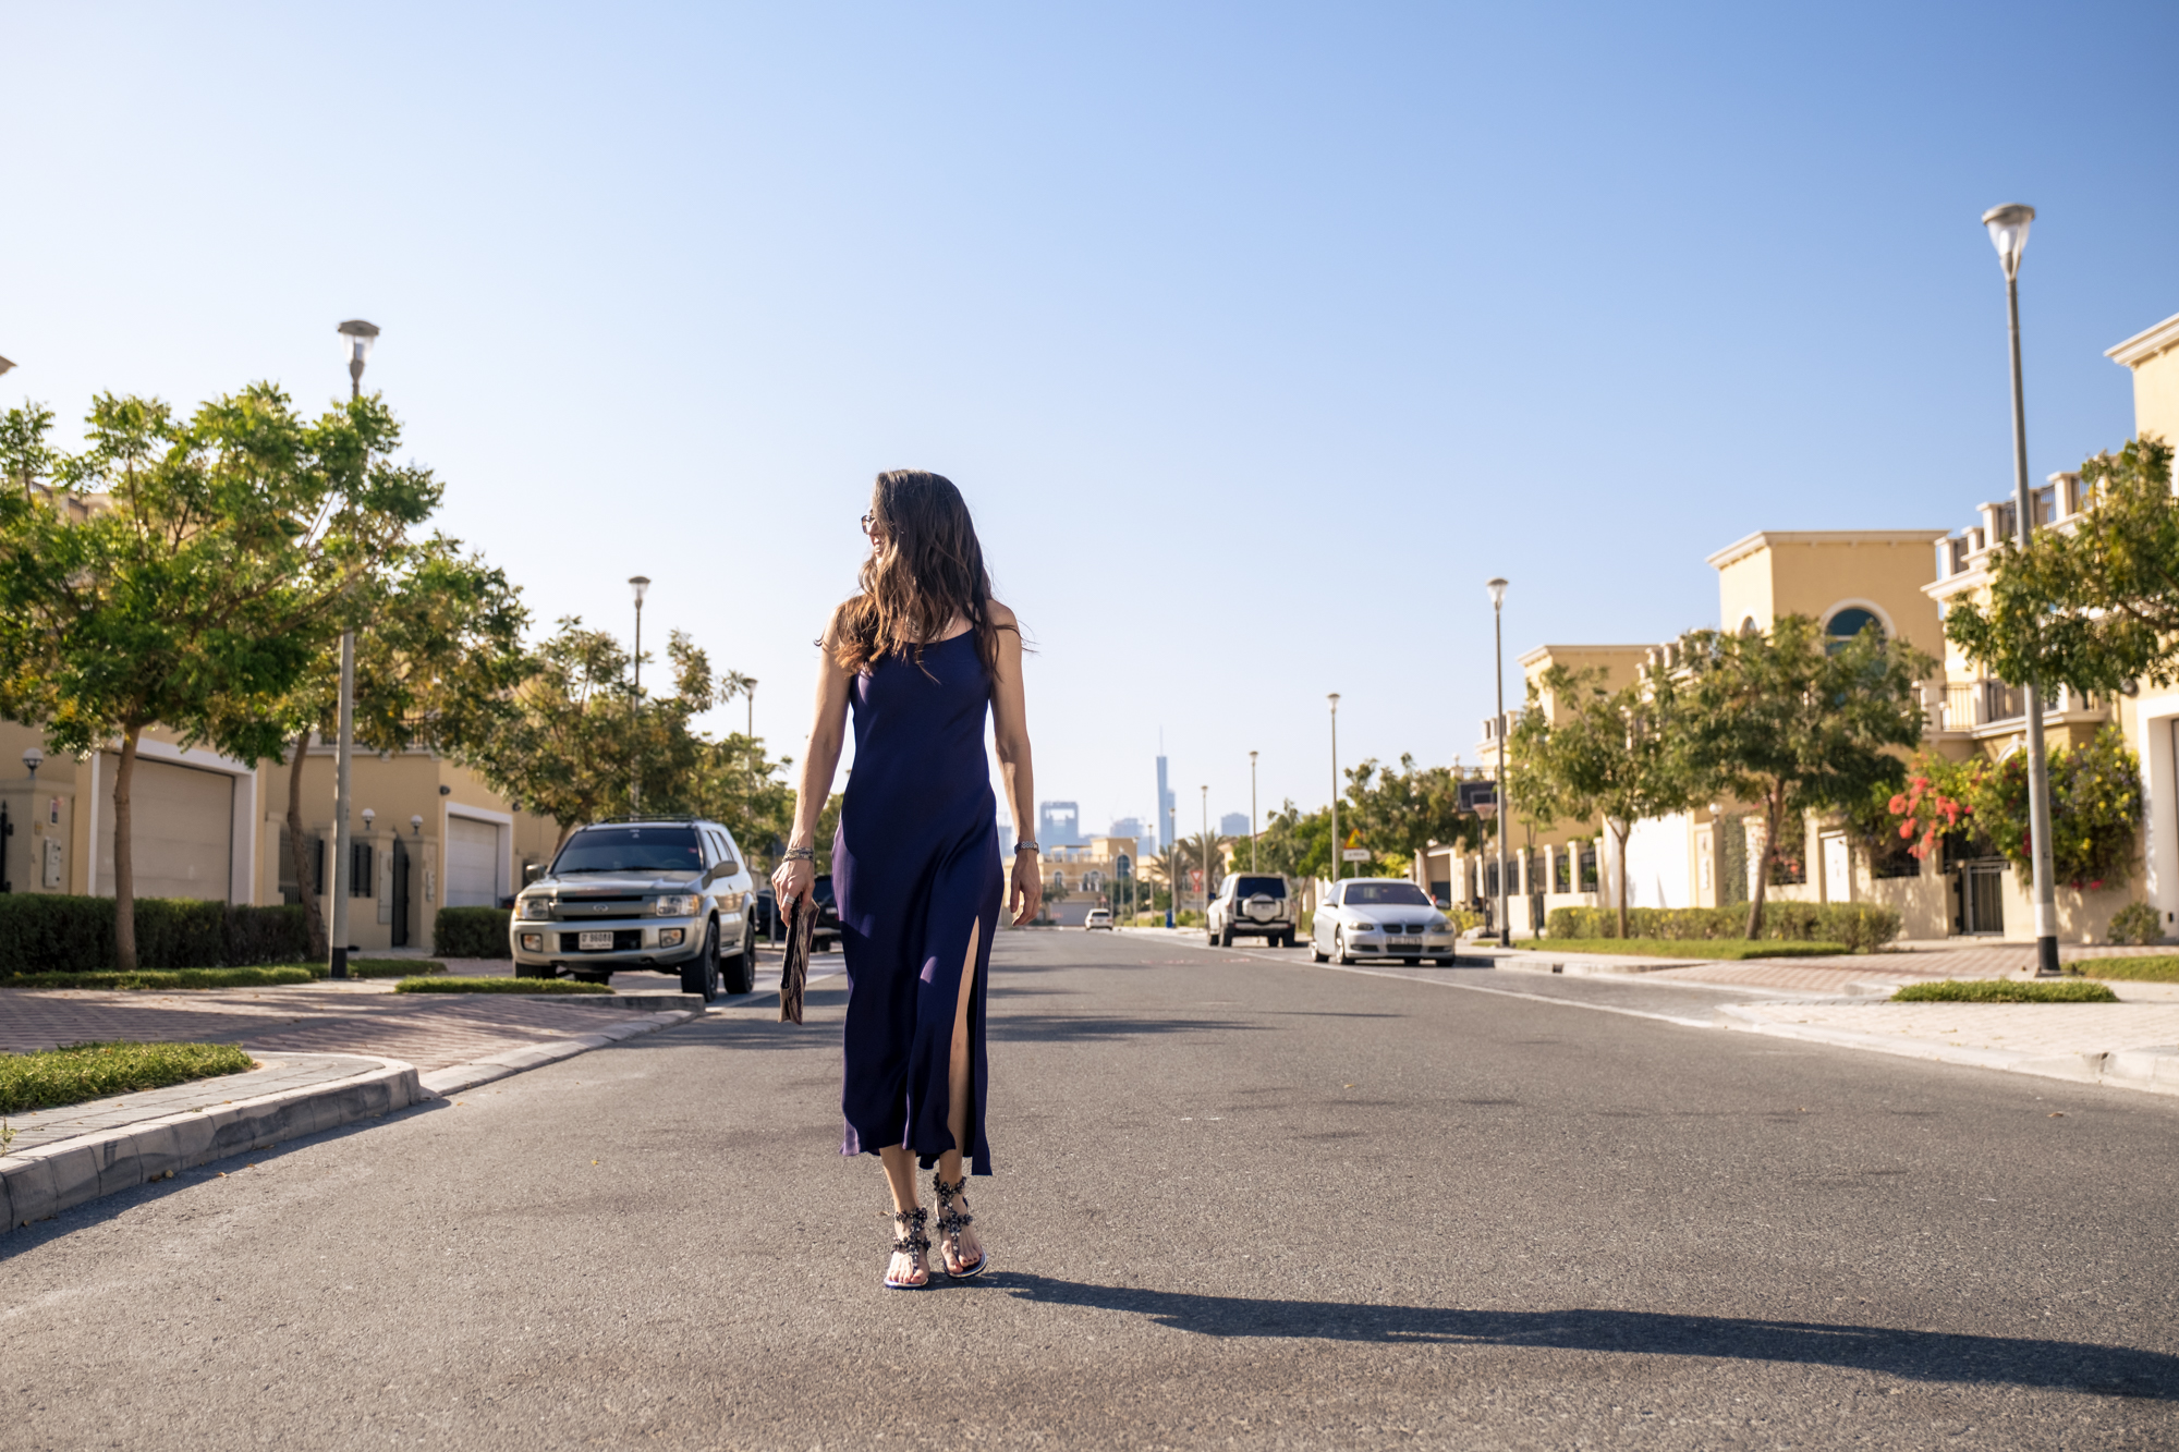
[[[630,1009],[577,996],[394,994],[388,981],[216,992],[0,990],[0,1049],[83,1040],[242,1044],[251,1053],[375,1053],[418,1070],[595,1033]]]

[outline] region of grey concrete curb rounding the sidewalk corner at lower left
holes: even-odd
[[[370,1053],[346,1057],[377,1060],[379,1068],[7,1155],[0,1160],[0,1212],[7,1217],[0,1234],[31,1221],[50,1221],[100,1195],[166,1179],[181,1169],[390,1114],[423,1097],[414,1064]]]

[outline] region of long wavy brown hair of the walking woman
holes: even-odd
[[[863,593],[839,608],[832,656],[841,669],[865,671],[896,652],[922,665],[924,645],[961,615],[976,632],[983,669],[996,680],[991,571],[952,480],[922,469],[880,473],[869,493],[869,528],[885,534],[885,549],[863,560]]]

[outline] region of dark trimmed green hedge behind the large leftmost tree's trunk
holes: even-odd
[[[137,968],[248,968],[309,957],[301,907],[137,898]],[[26,972],[111,972],[113,898],[0,896],[0,981]]]

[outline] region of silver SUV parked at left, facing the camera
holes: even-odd
[[[514,896],[514,977],[678,972],[684,994],[756,985],[756,883],[732,833],[697,818],[628,818],[569,833]]]

